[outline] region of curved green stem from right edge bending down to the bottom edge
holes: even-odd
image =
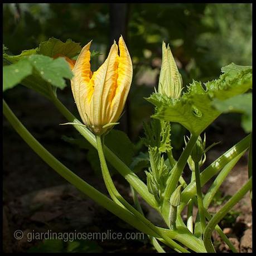
[[[245,185],[238,192],[236,192],[235,195],[232,196],[229,201],[226,202],[226,204],[221,207],[221,209],[216,212],[216,214],[211,218],[204,232],[204,244],[207,252],[215,252],[214,246],[211,243],[211,233],[214,230],[215,226],[219,223],[221,219],[224,218],[224,216],[230,211],[230,209],[244,197],[244,195],[250,189],[252,189],[252,177],[250,177]]]

